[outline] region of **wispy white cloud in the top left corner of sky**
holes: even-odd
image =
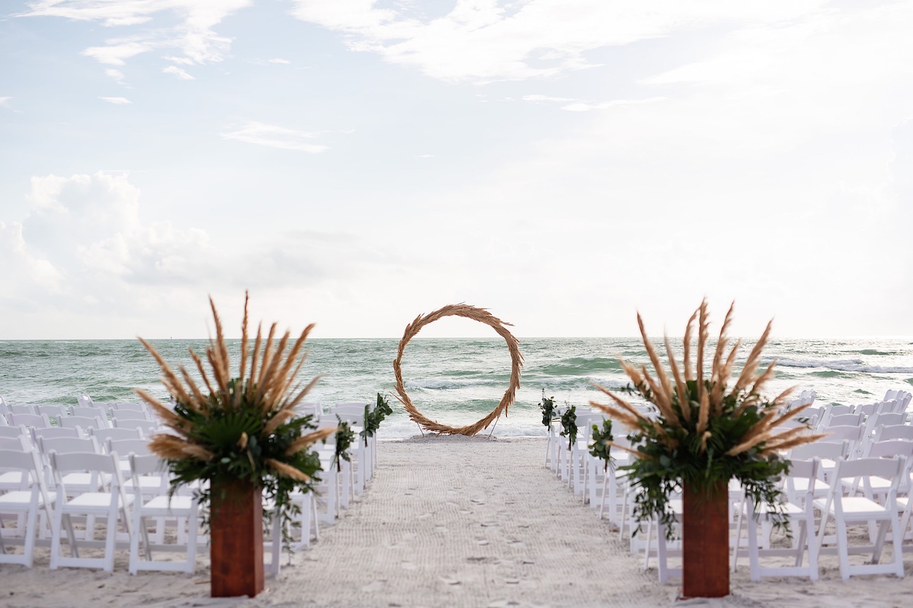
[[[82,51],[107,65],[122,66],[127,59],[154,48],[173,47],[183,51],[183,59],[204,64],[221,61],[231,46],[231,39],[219,36],[213,28],[251,4],[252,0],[34,0],[16,16],[56,16],[111,28],[146,25],[142,34],[110,38],[102,46]],[[148,26],[163,13],[176,16],[178,24]]]

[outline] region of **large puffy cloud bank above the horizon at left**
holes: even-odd
[[[320,291],[377,274],[376,244],[349,235],[274,226],[262,238],[218,242],[205,228],[176,225],[178,218],[144,220],[155,204],[143,214],[141,192],[123,173],[35,176],[26,200],[24,218],[0,222],[6,337],[125,338],[152,324],[158,335],[199,336],[188,302],[205,304],[207,292]],[[193,323],[184,329],[187,317]]]

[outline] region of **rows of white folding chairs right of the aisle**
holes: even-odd
[[[806,403],[812,403],[814,395],[805,395],[804,399],[808,401]],[[559,414],[561,414],[561,409]],[[617,470],[618,466],[623,466],[629,462],[629,457],[626,452],[622,450],[613,450],[614,456],[614,466],[604,467],[603,462],[590,456],[588,450],[586,449],[591,443],[589,440],[589,430],[592,428],[593,423],[597,425],[602,425],[602,414],[584,412],[582,414],[577,414],[578,417],[578,445],[568,445],[568,440],[566,437],[561,437],[558,435],[561,430],[561,425],[557,422],[552,425],[549,432],[549,441],[547,444],[547,455],[546,455],[546,466],[550,466],[551,469],[565,481],[570,487],[575,488],[575,492],[582,494],[583,502],[589,502],[591,507],[599,508],[599,517],[608,517],[612,520],[616,526],[618,526],[619,534],[622,538],[626,535],[631,543],[631,550],[633,552],[642,552],[644,555],[645,567],[650,563],[650,559],[653,556],[658,558],[660,562],[658,571],[660,575],[660,580],[666,582],[670,576],[677,575],[679,570],[670,569],[667,567],[667,558],[669,557],[668,546],[666,542],[660,542],[660,537],[665,539],[665,530],[657,529],[658,526],[653,525],[654,522],[637,522],[632,520],[631,511],[633,505],[631,504],[634,499],[634,489],[630,487],[624,475],[621,475]],[[882,422],[895,422],[893,419],[882,418]],[[908,422],[908,421],[906,421]],[[624,430],[622,425],[614,426],[614,441],[621,445],[629,444],[626,442],[626,437],[624,437]],[[839,435],[839,434],[837,434]],[[861,437],[861,435],[860,435]],[[818,561],[817,557],[820,552],[836,552],[839,556],[839,563],[841,569],[841,575],[844,577],[850,576],[851,574],[861,573],[863,571],[883,571],[889,573],[895,573],[899,576],[903,575],[902,569],[902,559],[897,558],[897,543],[902,542],[905,535],[910,536],[910,508],[908,507],[908,494],[909,487],[911,485],[911,472],[910,468],[913,465],[913,427],[910,425],[877,425],[872,431],[871,435],[866,436],[866,441],[864,443],[858,443],[851,447],[850,441],[845,439],[842,436],[829,437],[830,441],[816,442],[809,446],[801,446],[801,448],[796,448],[795,454],[792,455],[793,462],[796,465],[793,467],[791,476],[786,477],[786,485],[790,488],[793,485],[797,487],[812,487],[814,494],[814,500],[817,500],[818,503],[804,500],[800,493],[797,493],[794,489],[791,489],[788,492],[788,496],[791,499],[790,505],[787,506],[787,513],[790,517],[790,520],[793,524],[793,529],[798,529],[799,539],[795,540],[792,544],[792,547],[784,549],[782,547],[771,549],[771,539],[770,539],[770,520],[765,515],[766,508],[761,506],[761,511],[759,514],[749,517],[747,513],[753,513],[753,505],[750,504],[750,500],[744,497],[744,493],[738,484],[735,484],[734,487],[730,487],[730,498],[732,502],[732,529],[735,530],[735,539],[733,540],[732,547],[732,568],[736,567],[738,557],[744,555],[746,551],[749,554],[750,558],[750,572],[752,580],[757,580],[761,576],[782,576],[782,575],[803,575],[809,576],[809,578],[816,578],[818,573]],[[804,448],[804,451],[803,451]],[[816,456],[820,455],[820,456]],[[872,505],[866,505],[866,509],[861,511],[866,514],[866,518],[863,518],[865,522],[871,521],[870,527],[873,529],[871,532],[872,543],[866,548],[850,548],[849,540],[845,535],[845,523],[847,522],[857,522],[857,519],[854,519],[854,514],[847,512],[845,506],[848,505],[852,508],[861,508],[860,505],[863,504],[861,500],[855,500],[855,494],[860,491],[858,489],[859,484],[856,484],[856,487],[853,488],[852,492],[844,491],[845,484],[836,484],[835,486],[840,489],[839,499],[836,494],[829,498],[829,490],[831,485],[825,479],[830,479],[831,477],[837,478],[837,476],[845,475],[846,471],[852,470],[849,465],[843,465],[843,470],[838,471],[838,463],[842,462],[854,462],[856,460],[865,459],[866,461],[890,461],[895,464],[887,465],[889,467],[899,466],[899,470],[895,473],[894,478],[896,479],[896,486],[899,488],[900,496],[897,496],[897,491],[895,491],[894,504],[896,508],[891,508],[889,495],[890,495],[890,484],[892,482],[881,480],[876,474],[870,476],[864,476],[868,479],[876,479],[874,482],[874,487],[880,488],[878,492],[873,496],[871,493],[863,493],[861,498],[866,498],[880,504],[879,508],[872,508]],[[814,464],[811,464],[814,461]],[[585,463],[585,465],[583,464]],[[899,464],[897,464],[899,463]],[[810,469],[810,467],[812,467]],[[873,465],[875,467],[882,465]],[[813,476],[817,478],[817,483],[809,483],[801,481],[803,477],[807,477],[809,472],[813,472]],[[893,470],[893,469],[892,469]],[[885,473],[884,470],[881,471]],[[855,476],[858,477],[858,476]],[[885,477],[890,478],[890,477]],[[833,483],[833,482],[831,482]],[[887,484],[887,487],[886,487]],[[847,500],[844,500],[847,498]],[[848,498],[854,498],[853,500],[848,500]],[[876,498],[881,502],[877,502]],[[824,501],[830,500],[830,504],[827,504]],[[887,503],[886,503],[887,501]],[[674,499],[672,501],[672,507],[678,509],[680,515],[681,503],[680,500]],[[799,507],[797,507],[797,504]],[[817,523],[809,524],[809,521],[806,518],[806,505],[811,505],[811,512],[814,513],[817,511],[817,519],[814,519]],[[798,508],[798,510],[797,510]],[[879,510],[880,509],[880,510]],[[891,519],[889,514],[892,512],[897,513],[897,519]],[[875,513],[875,515],[872,515]],[[878,515],[882,513],[882,515]],[[869,517],[871,516],[871,517]],[[843,529],[842,534],[833,535],[824,535],[820,530],[824,529],[824,526],[828,524],[829,521],[839,520],[839,526]],[[887,524],[885,523],[887,521]],[[880,522],[880,523],[879,523]],[[750,524],[750,525],[749,525]],[[641,526],[641,533],[638,535],[634,534],[634,530]],[[752,528],[752,526],[754,528]],[[757,527],[760,526],[762,529],[761,539],[759,540],[757,534]],[[740,538],[742,528],[750,528],[747,538],[738,540]],[[876,528],[881,527],[881,531],[877,531]],[[652,531],[656,529],[656,540],[652,539]],[[880,552],[884,546],[885,534],[887,530],[890,530],[891,536],[887,537],[890,539],[892,546],[895,549],[896,555],[892,558],[892,561],[885,564],[878,564]],[[644,531],[647,530],[647,534],[644,534]],[[839,530],[838,530],[839,531]],[[638,538],[640,537],[640,538]],[[803,543],[800,543],[800,540]],[[809,542],[811,541],[810,549]],[[824,545],[824,546],[823,546]],[[803,547],[803,552],[799,552],[799,547]],[[908,549],[913,548],[913,546],[907,544],[904,545]],[[861,568],[860,564],[850,564],[848,561],[847,555],[849,552],[858,552],[860,550],[871,550],[872,555],[870,556],[870,561],[873,562],[872,568]],[[796,557],[796,563],[789,568],[773,568],[765,567],[762,565],[760,558],[767,557],[771,555],[776,555],[777,552],[788,552],[790,555]],[[808,560],[803,562],[803,554],[808,555]],[[897,564],[900,564],[899,566]]]

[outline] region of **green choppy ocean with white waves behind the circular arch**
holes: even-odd
[[[188,349],[201,355],[206,340],[152,341],[165,361],[193,367]],[[308,400],[323,404],[373,403],[388,395],[394,415],[381,438],[418,435],[394,397],[395,339],[309,341],[310,354],[300,380],[320,375]],[[656,340],[659,344],[661,341]],[[240,341],[229,341],[237,361]],[[741,349],[747,356],[750,342]],[[680,342],[674,343],[680,353]],[[610,388],[627,381],[618,358],[649,365],[635,338],[520,339],[523,373],[508,415],[485,433],[545,435],[539,404],[543,391],[558,404],[588,407],[602,400],[593,383]],[[677,355],[680,358],[680,354]],[[865,404],[888,389],[913,386],[913,339],[771,341],[765,361],[777,359],[774,396],[789,386],[813,389],[818,404]],[[159,370],[139,341],[0,341],[0,396],[9,404],[76,404],[81,394],[96,401],[137,401],[134,388],[167,398]],[[467,425],[490,412],[508,388],[510,356],[500,338],[422,339],[405,348],[406,392],[425,416],[448,425]],[[604,403],[604,400],[603,400]]]

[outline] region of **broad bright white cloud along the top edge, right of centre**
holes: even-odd
[[[364,0],[294,1],[294,16],[343,33],[353,50],[416,66],[432,78],[476,83],[593,68],[598,64],[588,54],[595,49],[733,21],[779,23],[825,4],[528,0],[499,5],[461,0],[446,15],[428,17],[406,3],[378,8]]]

